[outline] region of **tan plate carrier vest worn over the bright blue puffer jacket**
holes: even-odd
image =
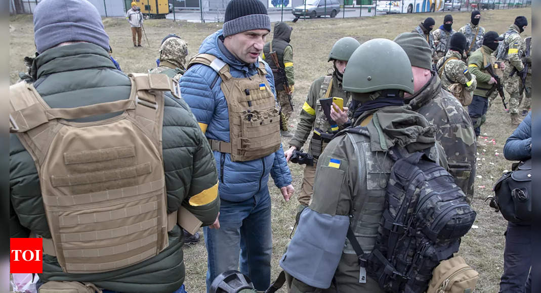
[[[222,79],[220,88],[229,112],[229,142],[209,139],[213,151],[231,154],[232,161],[263,158],[280,148],[280,108],[268,84],[265,63],[258,73],[235,78],[229,65],[210,54],[197,54],[188,63],[211,67]]]

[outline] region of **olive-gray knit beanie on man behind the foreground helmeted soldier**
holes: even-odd
[[[411,66],[432,70],[432,49],[425,38],[417,32],[404,32],[394,38],[407,57],[410,58]]]

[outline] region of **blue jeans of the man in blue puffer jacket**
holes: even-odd
[[[271,196],[268,186],[248,200],[221,200],[220,229],[203,228],[207,247],[207,292],[216,276],[239,270],[255,289],[265,291],[271,284]],[[240,257],[240,263],[239,263]]]

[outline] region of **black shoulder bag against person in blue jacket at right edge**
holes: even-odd
[[[513,223],[530,223],[532,213],[532,160],[513,164],[513,171],[506,172],[494,185],[490,206],[501,212],[505,220]]]

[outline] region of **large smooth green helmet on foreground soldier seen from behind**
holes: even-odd
[[[410,59],[392,40],[369,40],[349,58],[343,85],[344,90],[353,93],[401,90],[413,94]]]

